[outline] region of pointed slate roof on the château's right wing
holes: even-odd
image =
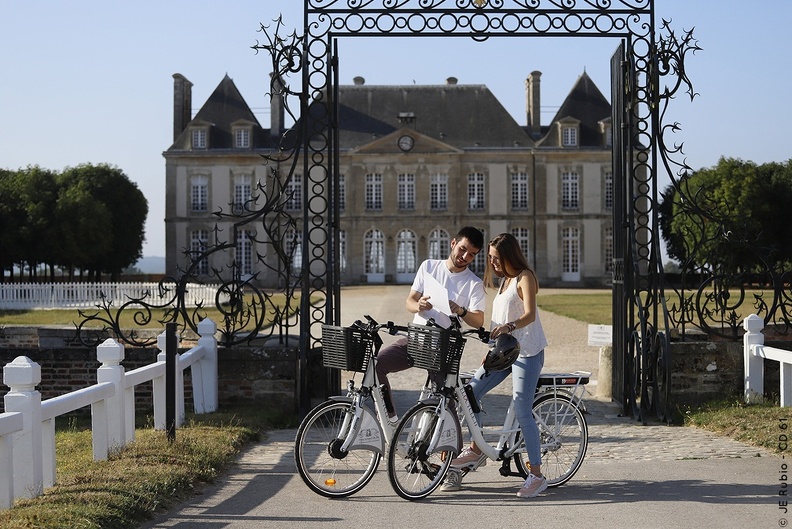
[[[610,117],[610,103],[584,70],[550,123],[555,124],[564,118],[577,119],[580,121],[579,145],[601,147],[602,133],[599,122]],[[560,147],[559,135],[554,132],[552,127],[548,130],[542,127],[542,134],[546,136],[537,142],[537,146]]]

